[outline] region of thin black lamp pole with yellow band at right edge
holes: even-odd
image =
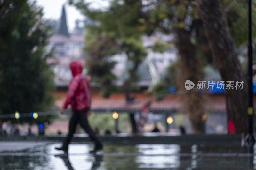
[[[249,35],[248,35],[248,93],[249,93],[249,106],[247,114],[249,117],[249,133],[247,135],[247,142],[255,142],[253,137],[253,92],[252,92],[252,1],[248,1],[248,19],[249,19]]]

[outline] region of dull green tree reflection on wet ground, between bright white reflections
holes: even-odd
[[[106,156],[104,156],[104,168],[106,169],[138,169],[139,164],[137,163],[137,156],[129,156],[128,153],[136,154],[138,153],[138,148],[133,145],[105,145],[104,152]],[[109,155],[108,155],[109,153]],[[116,154],[120,154],[120,156],[116,156]],[[115,155],[115,156],[113,156]]]

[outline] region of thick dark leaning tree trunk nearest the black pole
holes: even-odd
[[[248,93],[245,76],[237,58],[235,43],[232,40],[224,12],[218,0],[197,0],[204,33],[212,55],[220,71],[222,80],[244,81],[242,90],[226,90],[227,112],[235,122],[238,133],[248,132],[247,107]]]

